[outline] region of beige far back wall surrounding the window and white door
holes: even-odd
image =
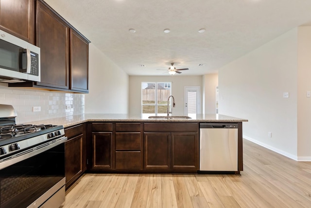
[[[129,113],[141,113],[141,82],[172,82],[172,95],[175,98],[174,115],[183,115],[185,107],[185,86],[199,86],[202,101],[202,76],[130,76]],[[202,106],[202,105],[201,105]],[[202,108],[202,107],[201,107]],[[202,112],[202,109],[200,110]]]

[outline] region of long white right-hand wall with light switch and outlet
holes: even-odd
[[[297,28],[219,69],[219,113],[248,119],[245,138],[297,159]]]

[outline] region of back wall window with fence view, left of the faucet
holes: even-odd
[[[172,95],[171,82],[142,82],[141,111],[143,114],[166,114],[167,99]],[[169,105],[171,106],[171,100]],[[169,108],[171,108],[169,106]]]

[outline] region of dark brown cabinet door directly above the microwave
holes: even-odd
[[[35,44],[35,0],[0,0],[0,29]]]

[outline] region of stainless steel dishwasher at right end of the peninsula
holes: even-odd
[[[238,124],[200,124],[200,171],[238,171]]]

